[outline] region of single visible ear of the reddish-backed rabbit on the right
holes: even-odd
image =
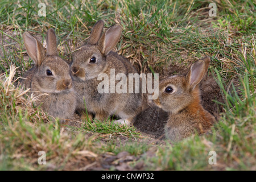
[[[185,77],[187,84],[191,90],[193,90],[195,86],[200,83],[205,73],[207,73],[207,69],[210,63],[209,60],[209,57],[205,57],[203,60],[199,60],[191,65],[191,68]]]

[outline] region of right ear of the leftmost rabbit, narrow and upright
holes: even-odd
[[[52,28],[47,31],[46,53],[48,56],[57,56],[59,54],[57,51],[57,38]]]

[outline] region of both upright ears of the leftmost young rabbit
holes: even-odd
[[[55,31],[52,28],[47,31],[46,53],[44,52],[42,43],[40,43],[38,39],[34,38],[34,36],[32,36],[30,33],[24,32],[23,40],[28,56],[30,56],[31,59],[35,62],[36,67],[39,67],[42,64],[46,53],[48,56],[59,55],[57,51],[57,38],[55,35]]]

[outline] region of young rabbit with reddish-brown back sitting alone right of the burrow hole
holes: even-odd
[[[167,137],[177,142],[194,133],[203,134],[215,122],[201,105],[199,83],[209,67],[210,58],[192,64],[185,76],[171,76],[159,83],[159,97],[154,104],[170,113],[165,126]]]

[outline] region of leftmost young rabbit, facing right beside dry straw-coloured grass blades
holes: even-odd
[[[42,44],[28,32],[23,34],[28,55],[35,66],[24,75],[22,84],[31,88],[32,94],[38,96],[35,105],[42,108],[53,118],[72,119],[76,108],[76,97],[72,88],[69,65],[58,56],[57,39],[54,30],[47,32],[47,53]]]

